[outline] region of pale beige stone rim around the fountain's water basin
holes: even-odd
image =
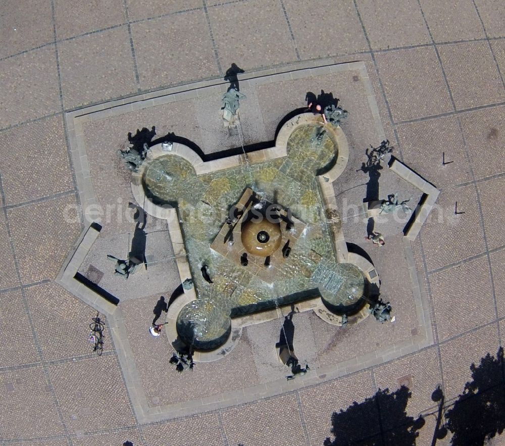
[[[303,113],[291,118],[281,127],[279,133],[277,134],[275,145],[273,147],[265,148],[263,150],[251,152],[248,154],[221,158],[218,160],[204,161],[190,147],[177,142],[173,143],[171,151],[164,150],[162,143],[156,144],[149,148],[146,160],[144,163],[142,163],[138,172],[133,172],[131,175],[132,193],[136,202],[142,206],[145,212],[151,216],[167,221],[181,282],[184,282],[186,279],[191,279],[191,271],[189,268],[189,263],[187,261],[185,245],[177,216],[177,211],[169,205],[157,205],[147,196],[144,189],[143,178],[149,163],[163,156],[177,155],[188,161],[193,166],[193,169],[195,170],[197,176],[210,172],[239,167],[244,164],[263,163],[269,160],[286,157],[287,142],[291,133],[301,126],[311,124],[323,125],[326,131],[330,134],[330,137],[333,139],[333,141],[336,142],[337,159],[335,164],[329,171],[325,172],[324,174],[316,175],[321,189],[321,195],[327,208],[327,218],[331,222],[331,220],[334,218],[332,209],[337,209],[332,182],[335,181],[344,171],[349,158],[349,149],[347,138],[345,137],[345,134],[340,126],[335,127],[332,124],[324,124],[321,115]],[[351,253],[348,253],[347,251],[341,229],[338,229],[333,233],[333,242],[335,245],[337,260],[339,262],[346,263],[348,259],[351,259]],[[356,256],[357,255],[352,254],[352,257]],[[368,263],[368,261],[364,258],[361,258],[361,261]],[[356,262],[352,261],[352,263]],[[363,270],[360,265],[358,266]],[[368,268],[368,265],[366,268]],[[373,269],[373,265],[371,266],[371,269]],[[195,299],[197,299],[197,296],[194,287],[185,289],[184,294],[179,296],[179,298],[169,308],[169,311],[167,313],[167,326],[165,333],[173,345],[176,345],[177,342],[180,342],[180,337],[177,332],[177,316],[183,306],[187,305]],[[193,355],[194,361],[210,362],[223,358],[223,356],[229,354],[238,344],[241,337],[242,328],[244,326],[278,319],[282,317],[285,312],[289,312],[290,307],[290,305],[287,305],[286,308],[281,306],[278,309],[264,310],[255,314],[231,319],[231,331],[228,339],[221,346],[219,346],[219,348],[213,351],[196,351]],[[333,325],[341,325],[341,317],[328,313],[319,295],[314,296],[313,299],[298,303],[297,307],[299,311],[314,310],[315,313],[326,322]],[[356,318],[356,322],[361,322],[361,320],[366,318],[368,316],[367,306],[365,306],[357,316],[358,317]]]

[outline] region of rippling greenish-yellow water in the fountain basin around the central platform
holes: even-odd
[[[203,345],[225,335],[232,312],[237,315],[271,307],[293,293],[320,287],[324,298],[335,306],[349,304],[351,294],[361,296],[363,276],[360,278],[356,267],[337,264],[325,223],[316,174],[334,162],[337,147],[326,132],[318,140],[320,130],[316,125],[295,129],[285,158],[198,177],[191,164],[176,155],[149,164],[144,174],[148,195],[160,204],[177,203],[198,296],[197,302],[181,311],[178,324],[192,321],[196,343]],[[289,208],[307,224],[273,283],[265,283],[210,247],[246,187],[270,203]],[[203,264],[208,265],[213,284],[200,273]],[[330,290],[325,288],[328,275],[333,277]]]

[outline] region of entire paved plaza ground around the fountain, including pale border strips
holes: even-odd
[[[414,444],[385,438],[421,416],[415,444],[433,444],[432,392],[443,392],[445,414],[456,407],[471,365],[496,357],[505,328],[503,11],[491,0],[2,3],[0,446],[339,444],[332,415],[380,392],[373,410],[361,406],[357,441]],[[232,64],[246,95],[236,131],[220,116]],[[306,93],[321,90],[348,111],[348,156],[324,186],[336,226],[310,237],[343,234],[334,251],[344,243],[373,266],[394,322],[332,325],[299,300],[293,345],[306,375],[286,380],[276,350],[289,306],[241,315],[220,359],[201,355],[177,373],[170,325],[159,337],[148,329],[161,296],[174,308],[187,297],[181,259],[187,271],[195,260],[166,219],[148,214],[135,238],[135,205],[145,204],[118,151],[129,132],[154,127],[152,141],[175,138],[207,165],[235,159],[250,174],[307,112]],[[385,139],[391,160],[367,169],[366,150]],[[198,206],[224,195],[223,172]],[[293,190],[281,191],[293,209],[319,206]],[[394,192],[431,212],[411,237],[408,214],[378,216],[379,246],[366,240],[364,201]],[[124,259],[138,243],[147,268],[125,281],[107,255]],[[101,356],[88,340],[97,311]],[[170,318],[169,307],[159,321]],[[384,392],[406,387],[398,421]]]

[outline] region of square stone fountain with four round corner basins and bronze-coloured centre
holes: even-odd
[[[132,190],[168,219],[181,280],[194,284],[169,310],[167,332],[200,353],[195,361],[226,354],[242,326],[279,317],[278,296],[338,325],[368,315],[378,277],[368,261],[347,260],[331,185],[347,158],[340,127],[312,114],[284,124],[274,147],[222,160],[179,143],[150,147]]]

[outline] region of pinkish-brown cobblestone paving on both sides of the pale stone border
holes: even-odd
[[[379,388],[408,385],[412,398],[407,411],[414,417],[433,412],[430,396],[437,385],[447,400],[456,398],[471,377],[470,365],[488,352],[496,353],[505,329],[505,13],[500,2],[456,4],[2,2],[0,445],[316,445],[331,437],[333,412],[371,397]],[[434,344],[399,359],[384,358],[380,365],[364,363],[361,370],[321,384],[283,387],[276,397],[223,410],[202,406],[205,413],[199,415],[176,413],[170,421],[139,423],[110,333],[105,332],[104,354],[97,357],[86,340],[95,311],[54,281],[82,230],[78,219],[68,217],[76,206],[85,205],[76,187],[64,114],[148,90],[222,77],[233,62],[251,72],[323,57],[365,62],[396,155],[441,190],[439,209],[413,243]],[[341,98],[344,95],[347,103],[359,97],[358,85],[342,91]],[[283,109],[300,107],[302,100],[283,103],[268,85],[251,98],[251,107],[270,110],[263,116],[267,139],[273,138],[273,123],[285,115]],[[179,102],[165,107],[163,118],[152,116],[153,108],[133,119],[124,115],[86,125],[90,168],[103,170],[118,190],[112,202],[97,184],[98,203],[116,206],[117,196],[123,204],[130,199],[128,182],[110,159],[119,147],[105,151],[104,141],[121,141],[127,131],[156,125],[160,131],[195,134],[194,142],[205,146],[203,133],[194,131],[204,118],[192,107]],[[205,107],[201,100],[201,110]],[[357,115],[365,113],[357,110]],[[174,130],[175,121],[179,127]],[[350,118],[347,137],[352,147],[380,142],[373,141],[371,127],[355,125]],[[442,152],[452,163],[442,165]],[[359,180],[348,175],[350,183]],[[455,215],[456,201],[464,214]],[[125,232],[124,220],[104,227],[104,234]],[[352,225],[346,233],[356,240],[360,236]],[[388,248],[399,242],[391,237],[383,251],[371,254],[374,262],[389,269],[405,263],[398,251]],[[369,250],[369,245],[364,247]],[[392,302],[395,293],[410,292],[392,286],[402,274],[406,271],[399,267],[383,278]],[[147,313],[150,320],[156,298],[126,302],[125,319],[135,322],[139,313]],[[418,329],[410,326],[412,308],[400,305],[395,310],[404,322],[381,327],[378,348],[386,339],[406,339],[414,335],[410,330]],[[358,355],[360,335],[378,332],[367,323],[331,339],[314,315],[304,316],[300,329],[303,325],[313,333],[313,339],[304,342],[315,346],[318,367],[333,364],[336,357]],[[164,339],[154,344],[133,326],[128,336],[144,368],[142,384],[153,406],[236,389],[242,382],[264,382],[265,375],[256,372],[259,355],[250,353],[261,351],[262,339],[252,329],[244,330],[233,355],[206,365],[212,375],[195,377],[193,385],[167,364]],[[149,376],[159,380],[149,381]],[[370,429],[378,429],[378,423],[371,423]],[[431,444],[433,429],[434,417],[427,416],[417,444]]]

